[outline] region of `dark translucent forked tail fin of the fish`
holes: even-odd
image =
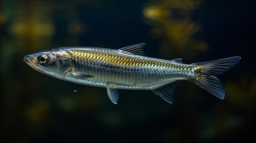
[[[224,99],[225,89],[220,80],[215,75],[220,75],[236,66],[241,57],[229,57],[218,59],[211,62],[194,63],[191,65],[199,66],[199,77],[192,79],[191,82],[207,90],[211,94]]]

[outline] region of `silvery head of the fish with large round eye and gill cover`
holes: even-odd
[[[53,49],[26,55],[24,61],[40,73],[62,78],[70,70],[71,56],[65,50]]]

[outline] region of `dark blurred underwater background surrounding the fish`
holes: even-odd
[[[1,142],[256,140],[252,1],[2,0],[0,7]],[[182,81],[173,104],[149,90],[119,90],[113,104],[106,88],[62,81],[23,61],[57,47],[138,43],[147,57],[185,64],[242,59],[218,76],[225,99]]]

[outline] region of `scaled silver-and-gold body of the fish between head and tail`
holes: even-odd
[[[92,75],[67,80],[101,87],[152,90],[175,80],[188,78],[193,66],[164,61],[106,48],[71,48],[74,73]],[[172,74],[170,74],[172,73]]]

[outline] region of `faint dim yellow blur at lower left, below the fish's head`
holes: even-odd
[[[26,117],[33,123],[42,122],[45,115],[49,112],[49,109],[50,105],[47,101],[38,101],[28,108]]]

